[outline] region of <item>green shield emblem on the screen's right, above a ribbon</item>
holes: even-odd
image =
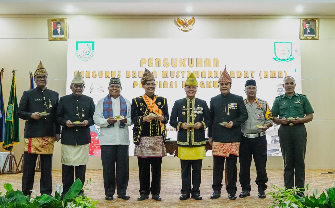
[[[292,57],[292,42],[274,42],[274,57],[275,61],[288,62],[293,60]]]

